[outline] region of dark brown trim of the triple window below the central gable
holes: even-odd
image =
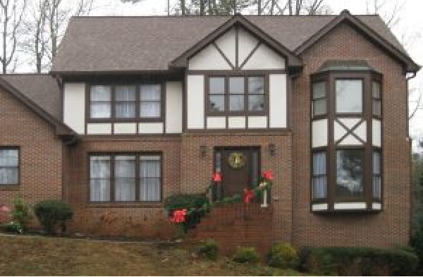
[[[267,116],[269,115],[269,74],[264,71],[254,71],[253,73],[247,73],[243,70],[240,73],[235,71],[225,71],[219,72],[204,72],[204,114],[205,116]],[[243,111],[229,111],[229,78],[244,78],[244,110]],[[249,95],[249,87],[248,87],[248,78],[250,77],[262,77],[264,78],[264,109],[263,111],[249,111],[248,106],[248,98]],[[209,110],[209,94],[210,87],[209,87],[209,79],[210,78],[224,78],[225,79],[225,93],[224,95],[224,111],[210,111]],[[219,95],[219,94],[216,94]],[[255,94],[254,94],[255,95]]]

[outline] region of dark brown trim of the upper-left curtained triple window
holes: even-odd
[[[111,116],[110,118],[91,118],[91,87],[95,85],[104,85],[111,87]],[[128,85],[135,86],[135,118],[116,118],[116,87]],[[140,86],[142,85],[160,85],[160,116],[159,117],[140,117]],[[85,95],[85,118],[86,123],[149,123],[164,122],[166,114],[166,82],[87,82]]]

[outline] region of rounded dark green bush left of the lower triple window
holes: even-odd
[[[59,200],[38,202],[35,204],[34,211],[48,235],[56,234],[57,228],[60,228],[61,233],[66,232],[66,221],[73,217],[71,207]]]

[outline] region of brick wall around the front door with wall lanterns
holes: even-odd
[[[269,144],[275,144],[276,154],[269,154]],[[207,147],[206,156],[200,156],[200,146]],[[180,189],[182,192],[204,192],[213,173],[214,147],[259,146],[262,170],[274,173],[271,188],[274,207],[271,237],[291,240],[292,230],[292,141],[290,133],[204,133],[183,135],[180,147]],[[185,168],[185,170],[184,170]],[[269,230],[270,232],[270,230]]]

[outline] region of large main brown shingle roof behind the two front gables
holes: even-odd
[[[336,16],[245,16],[294,51]],[[379,16],[357,16],[394,47]],[[231,16],[74,17],[52,72],[168,70],[168,64]]]

